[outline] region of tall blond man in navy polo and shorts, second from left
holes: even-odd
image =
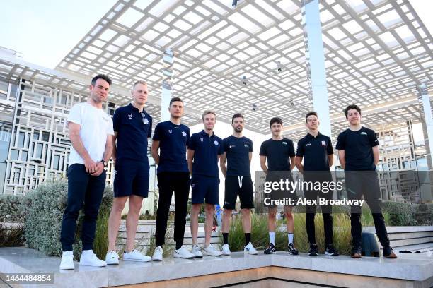
[[[152,117],[144,110],[148,95],[147,84],[137,81],[132,87],[132,103],[117,108],[113,119],[116,145],[112,150],[115,162],[114,194],[110,218],[108,219],[108,253],[107,264],[119,264],[116,252],[117,232],[120,215],[125,203],[129,200],[126,221],[127,241],[123,260],[150,261],[134,249],[135,232],[142,208],[143,198],[149,192],[149,160],[147,159],[147,139],[152,132]]]

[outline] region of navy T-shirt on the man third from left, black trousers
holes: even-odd
[[[157,173],[189,172],[186,149],[190,143],[190,128],[164,121],[156,125],[153,139],[159,141]]]

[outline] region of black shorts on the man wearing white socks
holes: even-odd
[[[291,175],[290,171],[268,171],[266,175],[266,182],[272,183],[277,182],[278,184],[283,181],[283,186],[279,185],[279,188],[272,189],[270,193],[265,193],[264,198],[270,198],[271,201],[273,200],[286,200],[291,199],[291,203],[293,204],[287,204],[284,206],[295,206],[296,202],[298,200],[298,196],[296,194],[296,190],[292,189],[290,184],[287,186],[287,181],[289,183],[293,183],[293,176]],[[277,207],[275,204],[267,204],[269,201],[265,201],[265,207]]]

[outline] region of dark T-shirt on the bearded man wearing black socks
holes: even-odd
[[[227,176],[251,176],[249,154],[253,152],[253,141],[232,135],[223,140],[223,146],[227,152]]]

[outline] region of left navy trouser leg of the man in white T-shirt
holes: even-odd
[[[71,251],[75,240],[76,220],[83,207],[89,174],[83,164],[72,164],[68,168],[68,200],[63,213],[60,241],[63,251]]]

